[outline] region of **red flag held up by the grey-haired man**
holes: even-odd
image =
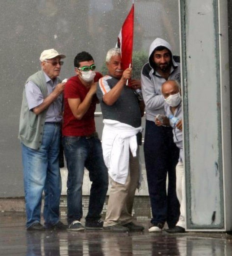
[[[134,36],[134,4],[127,15],[122,29],[118,36],[117,47],[121,49],[122,69],[125,70],[132,64],[133,52],[133,36]]]

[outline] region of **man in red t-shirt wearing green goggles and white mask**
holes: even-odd
[[[93,57],[80,52],[74,59],[76,76],[65,84],[63,145],[68,168],[67,221],[68,230],[102,229],[101,212],[108,190],[108,170],[105,166],[102,145],[96,133],[94,112],[98,99],[96,82],[102,74],[95,72]],[[84,169],[92,181],[85,227],[82,218],[82,183]]]

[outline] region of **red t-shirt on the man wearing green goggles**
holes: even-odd
[[[101,73],[96,72],[94,82],[97,82],[102,77]],[[86,88],[80,81],[78,76],[73,76],[65,84],[64,90],[64,119],[62,134],[64,136],[88,136],[96,131],[94,112],[98,99],[96,95],[93,96],[91,105],[81,120],[74,117],[68,105],[68,99],[80,99],[81,102],[85,99],[90,88]]]

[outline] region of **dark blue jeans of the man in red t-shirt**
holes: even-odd
[[[99,220],[108,190],[108,170],[103,160],[102,144],[97,137],[64,136],[63,145],[68,168],[68,224],[80,221],[83,216],[82,184],[85,167],[92,181],[86,221]]]

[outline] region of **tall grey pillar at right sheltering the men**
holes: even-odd
[[[180,0],[188,230],[232,227],[226,0]]]

